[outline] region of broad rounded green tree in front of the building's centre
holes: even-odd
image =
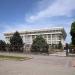
[[[41,35],[39,35],[33,40],[31,51],[48,53],[48,48],[49,45],[47,44],[45,39]]]

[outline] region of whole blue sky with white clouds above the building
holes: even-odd
[[[64,27],[66,42],[75,21],[75,0],[0,0],[0,39],[5,32]]]

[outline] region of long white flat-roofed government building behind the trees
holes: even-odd
[[[36,38],[37,35],[42,35],[42,37],[47,41],[49,45],[57,45],[61,41],[62,45],[65,45],[65,38],[67,36],[63,27],[54,27],[49,29],[39,29],[39,30],[31,30],[31,31],[22,31],[19,32],[22,37],[24,48],[30,47],[33,39]],[[10,43],[10,38],[14,33],[4,33],[6,43]]]

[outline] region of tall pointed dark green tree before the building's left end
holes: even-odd
[[[19,32],[15,32],[10,39],[10,48],[12,51],[21,52],[23,51],[23,40],[19,34]]]

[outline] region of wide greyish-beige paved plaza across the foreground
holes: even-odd
[[[0,60],[0,75],[75,75],[75,57],[24,54],[23,56],[32,59]]]

